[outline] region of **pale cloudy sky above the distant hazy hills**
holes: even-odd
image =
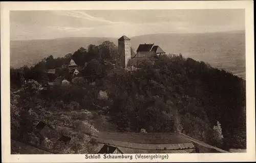
[[[10,11],[10,39],[245,30],[242,9]]]

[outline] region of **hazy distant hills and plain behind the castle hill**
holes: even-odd
[[[98,45],[109,40],[117,44],[118,38],[60,38],[10,42],[11,67],[32,66],[52,55],[63,57],[79,47]],[[136,50],[141,43],[159,45],[166,53],[182,53],[187,58],[204,61],[245,79],[245,34],[243,31],[205,34],[153,34],[131,37]]]

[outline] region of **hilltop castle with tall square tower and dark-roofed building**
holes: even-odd
[[[118,39],[118,53],[123,57],[123,67],[138,66],[141,62],[152,61],[165,52],[154,44],[140,44],[136,53],[132,53],[131,39],[122,36]]]

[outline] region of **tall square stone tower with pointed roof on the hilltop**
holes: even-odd
[[[123,66],[126,68],[128,61],[131,59],[131,39],[126,36],[118,39],[118,53],[123,57]]]

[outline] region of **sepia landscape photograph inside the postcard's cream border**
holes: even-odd
[[[245,9],[10,10],[9,31],[11,155],[247,152]]]

